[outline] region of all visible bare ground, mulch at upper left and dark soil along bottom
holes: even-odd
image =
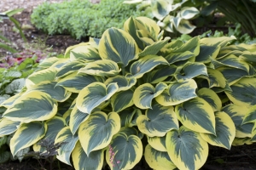
[[[15,15],[15,19],[20,21],[22,25],[31,25],[30,14],[32,9],[38,4],[43,3],[45,0],[0,0],[0,13],[14,8],[25,8],[21,14]],[[51,3],[60,3],[63,0],[48,0]],[[17,50],[22,50],[27,47],[19,35],[13,31],[13,24],[8,20],[3,20],[0,23],[0,32],[13,43]],[[52,49],[58,53],[64,53],[64,50],[73,45],[79,43],[79,41],[73,39],[68,35],[47,36],[43,32],[38,31],[35,28],[24,30],[28,42],[35,43],[38,38],[45,39],[46,45],[52,47]],[[6,52],[0,49],[1,54]],[[0,170],[39,170],[40,166],[38,161],[34,159],[24,160],[21,163],[19,161],[9,161],[5,164],[0,164]],[[42,168],[41,168],[42,169]],[[49,170],[48,166],[44,169]],[[55,169],[58,169],[55,165]],[[145,163],[139,164],[134,170],[148,170],[148,166]],[[211,147],[209,150],[209,156],[207,163],[201,169],[204,170],[256,170],[256,144],[234,146],[231,150],[225,150],[218,147]],[[73,167],[61,164],[61,170],[73,170]]]

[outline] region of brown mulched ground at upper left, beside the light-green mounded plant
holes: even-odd
[[[37,7],[38,4],[44,3],[45,1],[49,3],[61,3],[65,0],[1,0],[0,1],[0,13],[15,9],[24,8],[22,13],[16,14],[15,19],[20,22],[20,26],[24,27],[23,32],[26,36],[29,44],[24,42],[20,37],[18,32],[13,30],[14,24],[9,20],[3,20],[0,22],[0,34],[7,37],[12,45],[18,51],[24,48],[30,48],[33,44],[40,44],[45,42],[48,47],[51,47],[52,51],[58,53],[64,53],[65,49],[73,44],[79,43],[79,41],[68,35],[56,35],[48,36],[42,31],[38,31],[34,28],[30,22],[30,14],[32,14],[32,9]],[[32,44],[32,45],[31,45]],[[0,48],[0,56],[6,54],[6,51]]]

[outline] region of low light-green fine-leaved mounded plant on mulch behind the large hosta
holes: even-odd
[[[33,10],[32,24],[52,34],[71,34],[73,37],[102,37],[103,31],[114,26],[122,28],[130,16],[143,16],[135,5],[123,0],[72,0],[63,3],[43,3]]]

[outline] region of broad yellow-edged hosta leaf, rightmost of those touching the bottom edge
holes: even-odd
[[[166,148],[172,162],[179,169],[200,169],[207,161],[208,144],[199,133],[186,127],[166,135]]]

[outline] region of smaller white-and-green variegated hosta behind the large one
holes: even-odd
[[[183,6],[188,0],[127,0],[124,3],[138,3],[138,8],[144,9],[158,20],[157,24],[166,31],[189,34],[194,31],[189,20],[200,12],[195,7]]]

